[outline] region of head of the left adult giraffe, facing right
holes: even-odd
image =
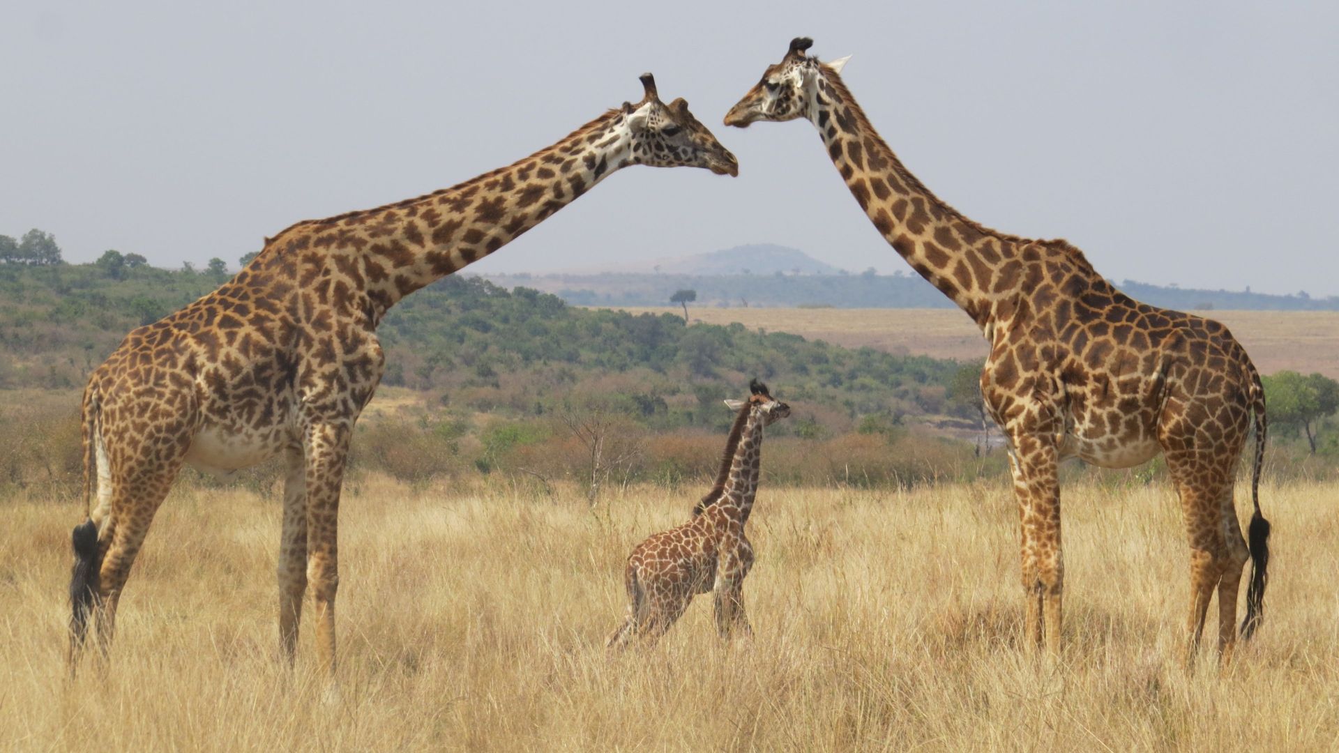
[[[665,105],[656,92],[656,79],[641,74],[645,96],[623,103],[632,138],[632,163],[652,167],[706,167],[718,176],[738,176],[739,162],[716,137],[688,111],[680,96]]]

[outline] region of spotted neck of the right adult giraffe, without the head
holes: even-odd
[[[861,209],[921,277],[988,332],[995,304],[1022,288],[1022,276],[1008,268],[1026,238],[983,228],[932,194],[880,138],[837,74],[823,71],[811,96],[810,121]]]

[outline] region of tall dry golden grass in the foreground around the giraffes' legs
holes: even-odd
[[[700,489],[609,490],[589,508],[576,488],[367,476],[341,509],[337,694],[312,670],[309,632],[296,670],[279,657],[277,492],[174,490],[122,599],[110,662],[86,661],[74,683],[64,591],[82,504],[39,490],[0,498],[0,745],[1339,746],[1332,482],[1265,485],[1267,622],[1229,669],[1206,650],[1188,673],[1189,557],[1166,485],[1098,477],[1065,489],[1066,651],[1047,666],[1022,646],[1018,513],[1003,481],[885,492],[765,481],[744,588],[754,638],[720,643],[703,596],[660,643],[608,657],[624,557],[684,520]]]

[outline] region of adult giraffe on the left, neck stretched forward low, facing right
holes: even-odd
[[[74,529],[71,667],[90,614],[111,636],[131,563],[182,464],[234,470],[285,453],[280,640],[292,661],[309,581],[319,661],[333,670],[340,485],[353,423],[382,376],[376,326],[387,310],[620,167],[738,174],[683,99],[661,103],[651,74],[641,83],[641,102],[514,165],[292,225],[217,291],[126,336],[83,397],[84,497],[96,488],[96,505]]]

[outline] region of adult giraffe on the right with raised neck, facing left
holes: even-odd
[[[726,125],[807,118],[856,201],[893,249],[981,328],[991,354],[981,394],[1010,445],[1022,528],[1030,639],[1060,643],[1060,496],[1056,464],[1129,468],[1166,457],[1190,539],[1186,662],[1213,588],[1218,650],[1236,640],[1241,569],[1252,560],[1245,638],[1263,618],[1269,523],[1260,515],[1264,389],[1227,327],[1138,303],[1063,240],[1004,234],[940,201],[897,159],[841,79],[798,38],[726,115]],[[1249,548],[1232,485],[1256,417]],[[1044,631],[1043,631],[1044,623]]]

